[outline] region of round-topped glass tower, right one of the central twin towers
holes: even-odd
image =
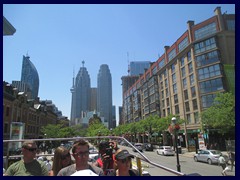
[[[97,111],[112,128],[112,76],[107,64],[102,64],[97,79]]]

